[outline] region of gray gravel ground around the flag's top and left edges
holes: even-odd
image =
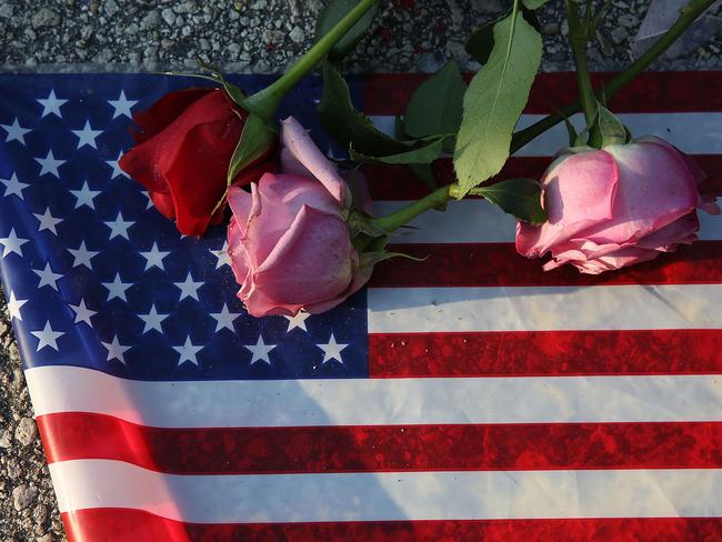
[[[6,71],[193,69],[203,58],[228,71],[274,72],[305,50],[321,0],[0,0],[0,69]],[[471,29],[502,0],[384,2],[349,71],[433,71],[445,59],[474,69]],[[630,60],[650,0],[614,0],[590,48],[594,70]],[[572,68],[561,0],[541,10],[545,71]],[[720,16],[720,13],[715,13]],[[722,69],[720,36],[658,62],[658,69]],[[1,295],[0,295],[1,299]],[[63,540],[18,348],[0,310],[0,541]]]

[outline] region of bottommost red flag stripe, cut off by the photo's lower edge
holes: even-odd
[[[613,495],[610,495],[613,498]],[[334,523],[197,524],[141,510],[90,509],[62,514],[71,542],[312,541],[719,541],[720,518],[594,518],[484,521],[349,521]]]

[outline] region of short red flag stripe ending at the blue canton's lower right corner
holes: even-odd
[[[371,378],[722,373],[722,330],[373,333]]]

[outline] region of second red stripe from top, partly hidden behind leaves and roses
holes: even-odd
[[[703,191],[722,195],[722,155],[695,154],[693,158],[710,175]],[[512,157],[501,173],[489,182],[493,183],[515,177],[540,179],[550,162],[550,157]],[[451,159],[437,160],[433,171],[440,184],[449,184],[454,179]],[[374,200],[417,200],[429,193],[427,185],[403,165],[367,164],[365,173],[369,178],[371,197]]]

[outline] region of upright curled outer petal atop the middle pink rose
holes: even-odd
[[[343,205],[347,201],[347,185],[335,164],[323,155],[293,117],[281,121],[281,142],[285,150],[281,151],[281,171],[285,171],[285,168],[297,174],[304,174],[303,170],[308,171],[325,187],[340,205]]]

